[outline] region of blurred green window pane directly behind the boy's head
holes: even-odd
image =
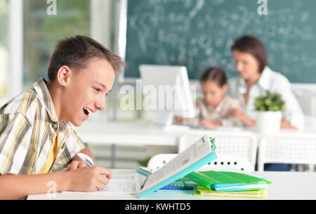
[[[53,1],[23,2],[23,84],[29,88],[40,77],[47,79],[49,60],[58,39],[76,34],[89,36],[90,1],[55,1],[55,15],[48,14]]]

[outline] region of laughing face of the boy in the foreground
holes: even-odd
[[[63,92],[60,118],[79,126],[90,113],[104,110],[114,79],[114,70],[105,59],[92,59],[86,68],[72,72]]]

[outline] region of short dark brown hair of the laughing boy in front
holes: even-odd
[[[96,40],[77,35],[58,40],[48,66],[48,80],[51,82],[55,80],[58,69],[62,65],[82,69],[86,68],[88,61],[92,58],[104,58],[112,65],[115,72],[121,72],[125,65],[121,57],[105,48]]]

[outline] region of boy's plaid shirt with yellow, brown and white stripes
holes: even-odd
[[[1,175],[61,170],[85,148],[70,122],[58,121],[45,82],[41,78],[0,108]]]

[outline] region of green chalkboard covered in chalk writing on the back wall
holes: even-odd
[[[211,66],[234,77],[230,46],[252,34],[272,70],[291,82],[316,83],[315,9],[315,0],[129,0],[124,75],[139,77],[146,63],[185,65],[190,79]]]

